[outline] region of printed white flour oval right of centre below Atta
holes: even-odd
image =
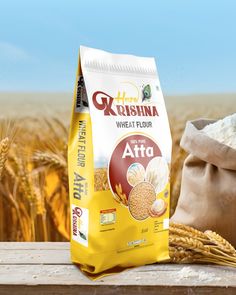
[[[169,181],[169,168],[165,158],[155,157],[148,163],[145,180],[155,187],[156,193],[165,189]]]

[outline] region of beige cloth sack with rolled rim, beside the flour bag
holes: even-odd
[[[211,229],[236,246],[236,149],[201,130],[213,122],[200,119],[186,125],[180,145],[189,156],[172,221]]]

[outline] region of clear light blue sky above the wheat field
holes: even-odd
[[[154,56],[164,93],[236,92],[234,0],[8,0],[0,91],[73,91],[80,45]]]

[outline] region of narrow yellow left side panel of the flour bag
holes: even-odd
[[[87,257],[90,251],[89,204],[94,187],[91,131],[91,118],[79,57],[68,144],[71,259],[79,264],[88,264]]]

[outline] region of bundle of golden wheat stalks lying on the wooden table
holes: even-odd
[[[171,223],[169,243],[173,263],[214,263],[236,267],[234,247],[212,231],[203,233],[190,226]]]

